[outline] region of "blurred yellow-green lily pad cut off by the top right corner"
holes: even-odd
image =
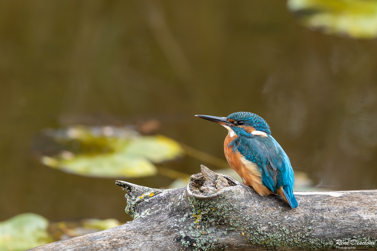
[[[310,29],[354,38],[377,37],[375,0],[288,0],[287,5]]]

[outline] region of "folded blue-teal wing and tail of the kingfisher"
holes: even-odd
[[[262,183],[273,193],[282,187],[292,208],[297,207],[293,195],[294,174],[287,154],[277,141],[268,137],[238,137],[237,149],[249,161],[261,169]]]

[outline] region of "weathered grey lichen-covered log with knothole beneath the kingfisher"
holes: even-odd
[[[159,190],[116,181],[127,190],[134,220],[109,230],[30,250],[310,250],[377,249],[377,190],[295,192],[262,197],[234,178],[210,171],[187,187]],[[367,242],[374,242],[368,244]],[[344,248],[343,248],[344,249]]]

